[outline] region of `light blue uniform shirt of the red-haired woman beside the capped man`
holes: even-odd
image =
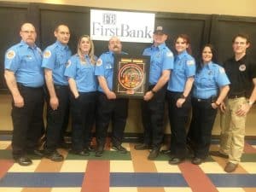
[[[177,55],[174,61],[171,78],[167,90],[183,92],[186,81],[195,75],[195,59],[186,50]]]

